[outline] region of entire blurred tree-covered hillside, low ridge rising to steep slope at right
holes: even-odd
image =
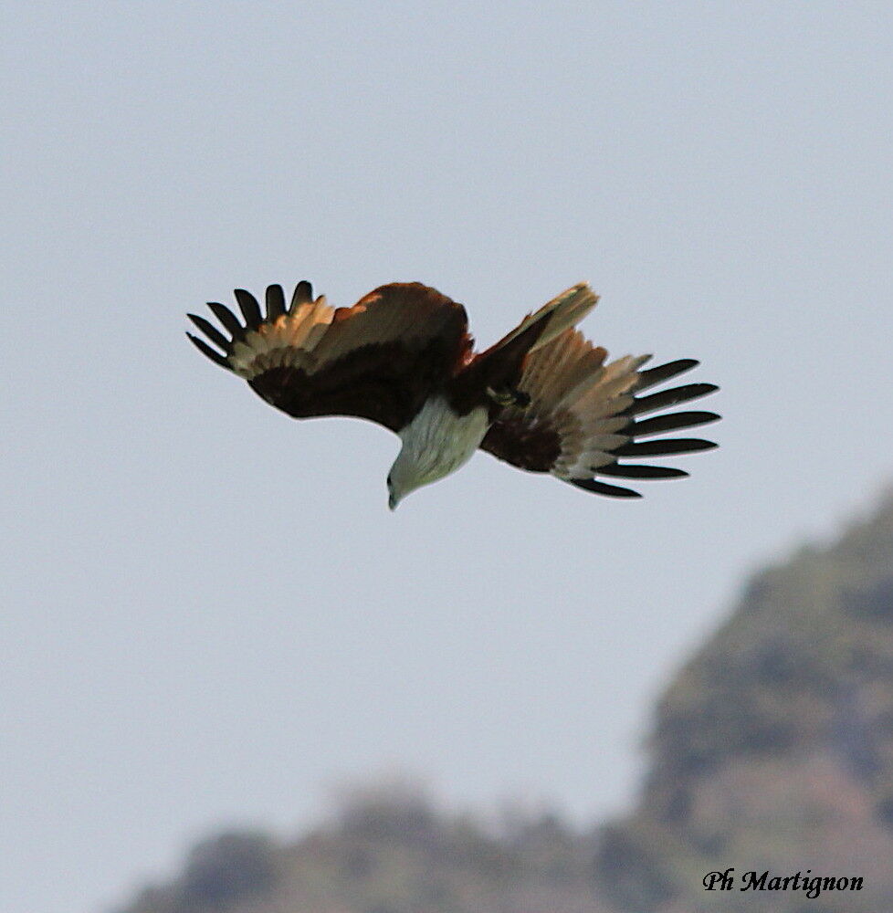
[[[893,498],[751,580],[667,687],[648,750],[636,810],[590,834],[550,814],[493,831],[366,792],[289,844],[211,838],[120,913],[893,909]],[[865,889],[706,892],[729,866]]]

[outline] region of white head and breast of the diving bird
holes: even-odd
[[[393,510],[411,491],[467,463],[487,426],[486,409],[460,416],[444,400],[428,400],[400,432],[403,446],[387,477],[388,507]]]

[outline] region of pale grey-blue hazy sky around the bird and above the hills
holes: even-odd
[[[886,3],[5,6],[0,911],[95,913],[331,784],[623,807],[760,562],[893,476]],[[726,418],[636,503],[295,423],[186,310],[580,279]],[[687,377],[687,379],[688,379]]]

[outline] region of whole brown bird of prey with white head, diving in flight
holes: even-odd
[[[314,299],[307,281],[287,305],[282,287],[271,285],[266,314],[249,292],[235,294],[244,324],[209,303],[228,335],[195,314],[188,316],[208,341],[186,335],[288,415],[352,415],[394,431],[403,446],[387,477],[391,509],[415,488],[455,472],[478,448],[595,494],[638,498],[602,478],[687,476],[622,460],[716,446],[697,437],[655,439],[716,421],[712,412],[660,410],[718,388],[687,383],[646,394],[694,368],[694,359],[647,370],[650,355],[605,362],[604,348],[574,329],[598,301],[586,283],[563,291],[483,352],[474,351],[465,308],[418,282],[383,285],[352,308]]]

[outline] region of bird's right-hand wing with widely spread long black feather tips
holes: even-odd
[[[598,479],[687,476],[682,469],[622,463],[624,457],[669,456],[709,450],[716,445],[700,438],[653,436],[715,422],[712,412],[675,412],[639,416],[697,399],[717,390],[714,383],[688,383],[642,396],[646,390],[694,368],[699,362],[680,359],[640,371],[650,358],[631,355],[604,364],[607,352],[576,330],[565,330],[531,352],[519,390],[530,397],[526,407],[502,410],[481,442],[512,466],[553,476],[600,495],[638,498],[637,491]],[[647,439],[644,439],[647,438]]]

